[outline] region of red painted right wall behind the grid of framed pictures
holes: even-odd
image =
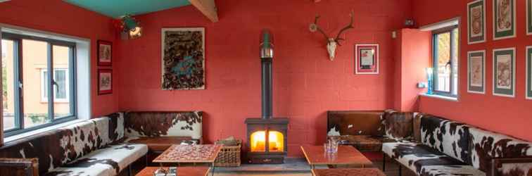
[[[460,26],[460,75],[458,102],[422,97],[421,111],[445,118],[466,122],[495,132],[513,135],[532,141],[532,101],[525,100],[525,47],[531,45],[531,36],[526,36],[525,1],[517,0],[517,37],[493,41],[493,1],[486,1],[487,42],[467,44],[467,3],[463,0],[426,1],[414,0],[413,14],[420,26],[441,20],[462,18]],[[435,9],[445,9],[438,11]],[[493,49],[516,47],[516,97],[493,96]],[[486,94],[467,93],[467,51],[486,50]]]

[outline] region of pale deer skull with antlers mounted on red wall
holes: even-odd
[[[355,28],[355,27],[353,27],[353,15],[354,15],[354,12],[351,11],[351,13],[349,15],[351,17],[351,21],[350,21],[349,25],[346,26],[346,27],[343,27],[342,30],[340,30],[340,32],[338,32],[338,34],[336,35],[336,38],[329,37],[329,35],[325,34],[325,32],[322,30],[322,28],[319,28],[319,26],[317,25],[317,20],[319,19],[319,15],[316,15],[316,18],[314,19],[314,23],[310,24],[310,32],[319,31],[320,33],[322,33],[324,35],[325,39],[327,39],[327,52],[329,53],[329,59],[331,61],[334,61],[334,56],[336,56],[336,46],[342,46],[340,44],[340,41],[341,40],[346,40],[346,39],[340,38],[341,34],[343,32],[345,32],[346,30]]]

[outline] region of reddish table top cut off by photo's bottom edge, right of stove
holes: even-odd
[[[377,168],[313,169],[315,176],[386,176]]]

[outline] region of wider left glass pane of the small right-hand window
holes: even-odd
[[[436,91],[450,92],[450,32],[436,35]]]

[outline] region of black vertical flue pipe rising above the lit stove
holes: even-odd
[[[260,37],[260,63],[262,69],[261,99],[262,118],[272,118],[272,59],[273,59],[273,36],[270,30],[262,30]]]

